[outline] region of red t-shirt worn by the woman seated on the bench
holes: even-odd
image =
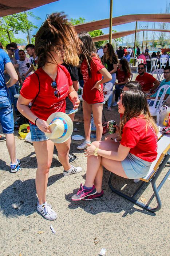
[[[150,125],[146,131],[144,118],[132,118],[124,125],[120,144],[130,147],[130,153],[153,162],[157,158],[157,134]]]

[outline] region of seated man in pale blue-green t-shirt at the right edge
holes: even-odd
[[[165,85],[165,84],[169,84],[170,86],[170,66],[166,66],[164,69],[163,69],[163,75],[164,75],[164,78],[161,82],[161,84],[159,85],[159,87],[157,88],[157,91],[158,89],[161,88],[161,86]],[[160,91],[159,93],[159,96],[158,96],[158,99],[161,98],[161,95],[163,94],[163,90]],[[164,101],[167,99],[167,97],[170,95],[170,87],[169,89],[166,91],[166,94],[165,94],[165,97],[164,97]],[[147,96],[147,100],[150,100],[150,99],[155,99],[157,97],[157,92],[154,93],[154,94],[150,94]],[[150,101],[149,101],[150,102]],[[148,103],[149,103],[148,102]],[[151,101],[150,103],[150,106],[152,106],[154,103],[154,101]]]

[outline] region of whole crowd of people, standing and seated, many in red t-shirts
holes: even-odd
[[[71,165],[76,160],[70,154],[70,137],[56,142],[51,138],[51,124],[58,120],[59,113],[66,113],[74,121],[78,111],[79,84],[83,88],[83,119],[86,140],[78,146],[85,151],[87,160],[86,182],[80,185],[72,200],[94,200],[103,197],[103,167],[129,179],[144,177],[157,157],[158,128],[151,118],[147,98],[155,97],[158,87],[170,84],[170,66],[164,68],[165,79],[161,82],[146,72],[145,63],[138,65],[136,81],[129,81],[131,71],[129,56],[140,54],[137,48],[125,47],[114,52],[109,43],[101,46],[98,53],[91,36],[77,34],[66,16],[54,13],[40,27],[35,46],[19,50],[15,43],[0,44],[0,123],[6,136],[6,145],[11,158],[11,172],[16,173],[21,161],[16,158],[13,135],[13,108],[16,115],[29,120],[31,140],[37,159],[36,191],[37,211],[48,220],[55,220],[57,213],[46,201],[48,175],[52,163],[54,146],[63,166],[63,176],[82,172],[82,167]],[[148,53],[147,49],[146,52]],[[139,55],[140,56],[140,55]],[[118,82],[116,82],[116,79]],[[115,102],[120,113],[120,124],[116,133],[102,138],[102,109],[104,102],[103,83],[115,85]],[[14,95],[19,93],[19,98]],[[146,94],[149,94],[146,98]],[[170,91],[167,91],[167,95]],[[161,97],[161,95],[159,95]],[[113,95],[108,99],[107,110],[111,109]],[[12,103],[13,101],[13,108]],[[96,125],[96,142],[90,140],[90,120],[93,112]],[[48,122],[50,117],[52,122]],[[68,117],[67,116],[67,117]],[[66,118],[67,119],[67,118]],[[68,120],[68,119],[67,119]],[[64,132],[67,134],[67,121]],[[56,133],[55,133],[55,136]],[[50,138],[50,139],[49,139]],[[57,137],[58,138],[58,137]]]

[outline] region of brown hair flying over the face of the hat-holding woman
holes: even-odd
[[[53,13],[40,27],[35,38],[35,53],[40,67],[47,63],[58,64],[51,50],[59,53],[57,44],[62,42],[65,49],[65,62],[79,65],[80,42],[74,26],[68,22],[64,13]]]

